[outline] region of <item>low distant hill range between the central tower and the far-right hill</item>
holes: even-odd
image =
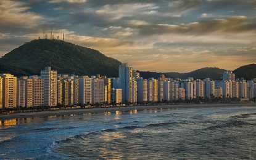
[[[159,78],[160,74],[165,74],[167,78],[181,78],[186,79],[189,77],[193,77],[194,79],[204,79],[210,78],[213,80],[220,80],[223,74],[224,69],[220,68],[213,68],[213,67],[206,67],[201,68],[198,70],[191,71],[189,73],[157,73],[157,72],[150,72],[150,71],[139,71],[140,75],[143,78]]]

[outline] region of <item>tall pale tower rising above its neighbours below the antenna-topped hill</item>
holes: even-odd
[[[57,105],[57,71],[51,67],[44,68],[41,71],[41,78],[44,79],[44,105]]]

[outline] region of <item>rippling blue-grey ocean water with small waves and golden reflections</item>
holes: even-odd
[[[256,159],[256,107],[0,121],[0,159]]]

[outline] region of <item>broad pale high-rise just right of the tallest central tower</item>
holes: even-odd
[[[137,79],[138,102],[147,102],[147,79]]]

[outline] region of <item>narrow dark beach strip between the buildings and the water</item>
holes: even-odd
[[[47,117],[47,116],[62,116],[70,114],[84,114],[84,113],[104,113],[115,111],[130,111],[130,110],[159,110],[159,109],[189,109],[189,108],[212,108],[212,107],[231,107],[231,106],[256,106],[256,103],[215,103],[215,104],[182,104],[182,105],[156,105],[156,106],[121,106],[109,108],[85,108],[85,109],[69,109],[69,110],[54,110],[54,111],[40,111],[31,113],[14,113],[14,114],[0,114],[0,121],[7,119],[20,119],[31,117]]]

